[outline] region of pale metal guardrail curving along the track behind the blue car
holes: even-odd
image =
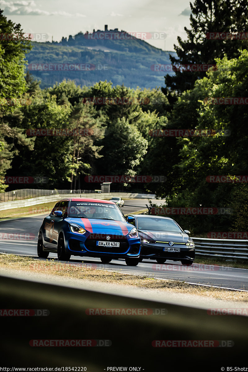
[[[112,198],[112,196],[119,196],[120,198],[146,198],[153,199],[155,198],[154,194],[138,194],[138,193],[90,193],[90,194],[57,194],[52,196],[41,196],[39,198],[25,199],[25,200],[16,200],[13,202],[0,203],[0,211],[13,208],[29,207],[36,204],[56,202],[59,199],[63,198],[96,198],[96,199],[106,199]]]

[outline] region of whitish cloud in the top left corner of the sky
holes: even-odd
[[[0,6],[4,10],[4,15],[17,16],[64,16],[64,17],[86,17],[81,13],[67,13],[67,12],[47,12],[46,10],[37,9],[33,0],[21,1],[5,1],[0,0]]]

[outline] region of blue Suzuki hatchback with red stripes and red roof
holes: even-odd
[[[58,260],[71,256],[100,257],[103,263],[124,258],[129,266],[139,263],[141,239],[133,222],[125,218],[115,202],[88,199],[62,199],[44,218],[38,235],[37,253]]]

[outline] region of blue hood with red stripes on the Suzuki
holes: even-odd
[[[77,224],[94,234],[102,234],[105,230],[107,234],[127,235],[133,228],[133,225],[128,222],[109,219],[67,218],[67,221]]]

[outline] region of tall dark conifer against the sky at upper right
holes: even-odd
[[[238,49],[248,48],[248,39],[209,38],[213,37],[209,33],[245,33],[248,26],[247,1],[195,0],[193,5],[190,3],[190,8],[191,29],[184,28],[188,36],[186,41],[178,36],[179,46],[174,44],[178,58],[170,55],[173,65],[214,65],[216,58],[223,58],[225,54],[228,59],[235,58],[240,55]],[[171,91],[180,94],[193,89],[194,82],[205,75],[205,71],[176,71],[174,76],[167,74],[166,88],[162,88],[162,92],[168,95],[169,102],[173,104],[176,97]]]

